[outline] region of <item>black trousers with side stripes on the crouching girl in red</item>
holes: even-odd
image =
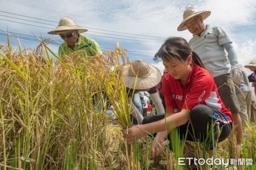
[[[142,124],[156,122],[164,117],[164,114],[146,116]],[[173,129],[168,137],[171,150],[174,147],[172,139],[177,134],[179,140],[199,141],[205,144],[205,150],[212,150],[216,143],[222,142],[229,136],[231,130],[232,122],[229,116],[207,105],[197,105],[190,112],[189,122]]]

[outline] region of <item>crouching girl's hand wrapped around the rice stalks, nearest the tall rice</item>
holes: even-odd
[[[127,144],[131,144],[136,139],[140,139],[147,134],[142,127],[143,125],[134,125],[128,129],[122,130],[123,137]]]

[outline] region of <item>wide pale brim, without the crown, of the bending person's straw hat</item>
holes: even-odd
[[[145,77],[136,77],[134,75],[131,75],[129,72],[130,67],[131,65],[123,66],[123,79],[127,88],[145,90],[158,85],[161,81],[161,72],[154,65],[149,64],[151,72]],[[136,85],[134,85],[135,82]]]

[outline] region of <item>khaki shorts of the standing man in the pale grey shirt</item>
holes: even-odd
[[[222,102],[231,113],[239,113],[239,102],[236,98],[235,85],[230,78],[230,74],[222,74],[214,78],[215,84],[218,88],[218,94]]]

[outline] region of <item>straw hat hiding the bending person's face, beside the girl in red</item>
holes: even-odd
[[[139,59],[123,66],[125,85],[136,90],[145,90],[161,81],[161,72],[154,65]],[[137,76],[137,80],[136,80]],[[136,81],[136,85],[135,84]]]

